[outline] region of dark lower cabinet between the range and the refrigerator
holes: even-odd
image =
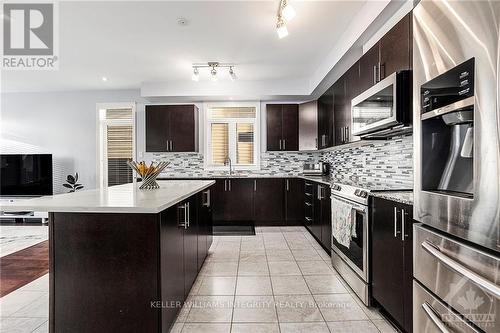
[[[372,296],[405,332],[412,332],[413,208],[371,202]]]

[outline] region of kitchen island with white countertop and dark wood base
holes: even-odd
[[[49,212],[49,331],[166,332],[212,243],[211,180],[2,205]]]

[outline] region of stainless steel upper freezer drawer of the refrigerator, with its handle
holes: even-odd
[[[498,332],[500,258],[423,225],[414,237],[415,278],[485,332]]]

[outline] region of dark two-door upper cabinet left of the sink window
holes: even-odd
[[[195,105],[146,105],[147,152],[197,152]]]

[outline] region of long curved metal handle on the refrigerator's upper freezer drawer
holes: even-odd
[[[477,274],[476,272],[471,271],[470,269],[456,262],[452,258],[448,257],[446,254],[441,252],[441,249],[437,245],[432,244],[431,242],[426,240],[422,242],[422,248],[424,248],[424,250],[429,252],[432,256],[434,256],[436,259],[441,261],[443,264],[445,264],[455,272],[462,274],[463,276],[465,276],[466,278],[477,284],[479,287],[488,290],[497,298],[500,298],[499,286],[497,286],[490,280],[482,277],[481,275]]]

